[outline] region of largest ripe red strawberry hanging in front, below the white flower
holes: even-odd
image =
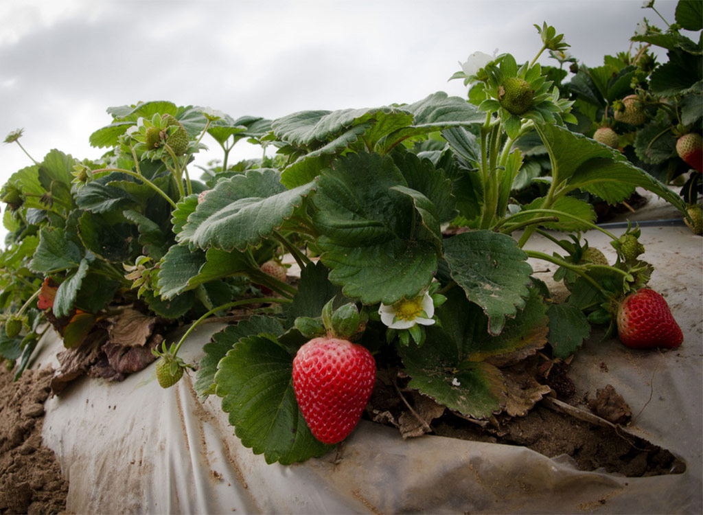
[[[375,380],[376,362],[370,352],[340,338],[314,338],[293,360],[295,399],[322,443],[347,438],[361,419]]]

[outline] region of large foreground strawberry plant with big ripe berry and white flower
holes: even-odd
[[[686,208],[612,144],[569,129],[577,101],[537,63],[568,45],[536,27],[530,62],[476,53],[463,63],[452,78],[467,99],[437,92],[276,120],[167,101],[110,108],[112,122],[90,136],[107,149],[101,159],[51,151],[0,193],[11,231],[0,353],[31,354],[46,319],[67,348],[92,345],[110,362],[121,317],[141,317],[136,361],[158,358],[169,387],[193,366],[178,357],[191,331],[247,305],[251,317],[204,346],[194,386],[221,398],[243,445],[283,464],[346,438],[378,381],[467,419],[527,413],[548,388],[534,382],[525,395],[510,367],[538,351],[572,355],[591,324],[614,330],[612,305],[652,272],[638,229],[598,227],[577,193],[617,203],[641,187]],[[223,158],[196,179],[205,134]],[[276,156],[232,165],[243,138]],[[544,148],[548,177],[527,170],[527,139]],[[531,179],[540,194],[516,198]],[[582,241],[589,229],[612,239],[616,262]],[[564,252],[524,250],[535,234]],[[559,267],[565,303],[550,302],[528,258]],[[157,324],[189,327],[175,343],[150,336]],[[124,360],[110,367],[127,372]]]

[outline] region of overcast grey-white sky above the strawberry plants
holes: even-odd
[[[0,139],[41,160],[51,148],[98,158],[90,134],[110,106],[169,100],[235,118],[465,95],[449,77],[474,51],[534,57],[534,24],[564,33],[586,65],[626,51],[642,0],[2,0]],[[673,23],[676,0],[657,0]],[[662,58],[659,59],[662,61]],[[666,58],[663,58],[666,61]],[[542,58],[541,63],[556,64]],[[203,140],[208,143],[207,138]],[[217,144],[198,158],[221,158]],[[236,147],[237,148],[237,147]],[[259,157],[240,142],[238,158]],[[234,158],[234,160],[233,160]],[[0,184],[30,165],[0,144]],[[197,171],[191,172],[197,176]],[[3,206],[4,207],[4,206]],[[5,231],[0,229],[0,245]]]

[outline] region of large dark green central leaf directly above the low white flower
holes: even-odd
[[[413,202],[392,189],[407,183],[391,158],[346,155],[318,184],[314,222],[322,234],[321,260],[344,295],[392,304],[415,297],[430,283],[437,250],[432,239],[413,232]]]

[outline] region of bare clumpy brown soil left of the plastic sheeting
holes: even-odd
[[[0,367],[0,514],[60,513],[68,483],[41,444],[53,370],[26,370],[18,381]]]

